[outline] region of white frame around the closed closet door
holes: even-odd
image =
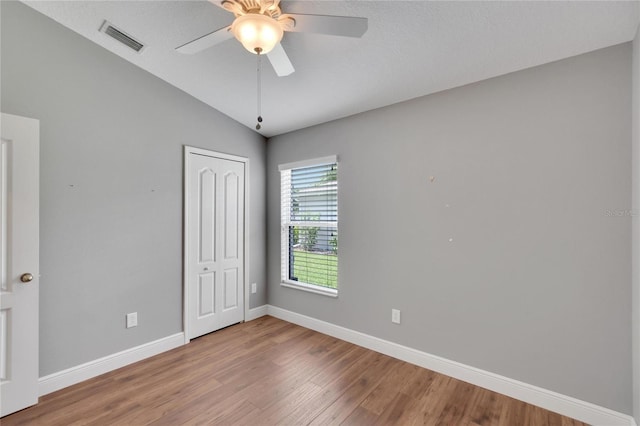
[[[203,148],[196,148],[193,146],[184,145],[184,170],[183,170],[183,229],[182,229],[182,252],[183,252],[183,264],[182,264],[182,327],[184,329],[184,343],[189,343],[189,157],[191,154],[204,155],[207,157],[220,158],[222,160],[231,160],[244,163],[244,217],[242,223],[244,227],[244,259],[243,269],[244,277],[242,280],[243,294],[244,294],[244,312],[242,320],[245,321],[249,314],[249,300],[251,297],[251,286],[249,282],[249,159],[247,157],[240,157],[238,155],[226,154],[218,151],[211,151]]]

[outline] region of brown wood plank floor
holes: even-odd
[[[11,425],[582,425],[272,318],[46,395]]]

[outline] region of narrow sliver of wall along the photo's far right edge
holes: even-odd
[[[633,416],[640,424],[640,31],[633,40],[632,105],[632,359]]]

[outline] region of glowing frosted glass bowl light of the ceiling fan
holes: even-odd
[[[269,53],[282,40],[284,31],[275,19],[259,13],[238,16],[231,32],[249,52]]]

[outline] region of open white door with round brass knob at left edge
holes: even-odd
[[[0,416],[38,402],[37,120],[2,114]]]

